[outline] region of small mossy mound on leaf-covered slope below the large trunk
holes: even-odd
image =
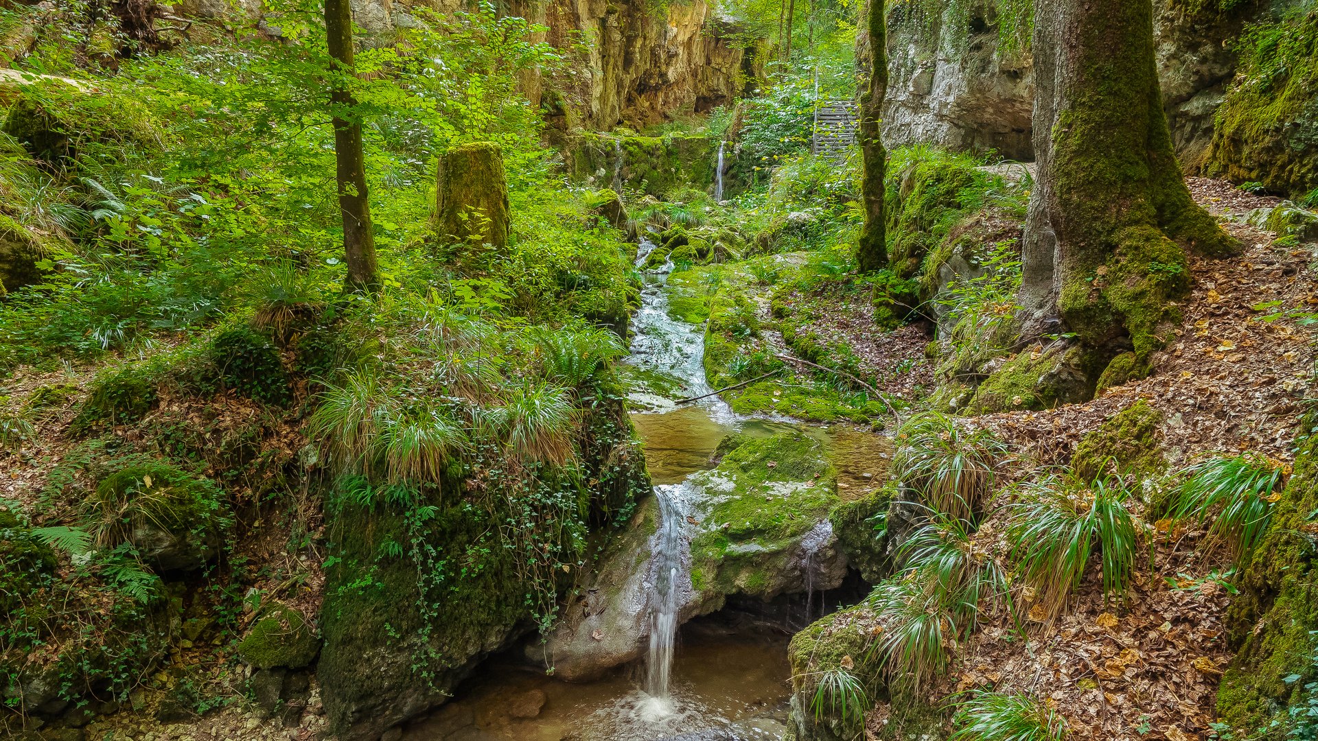
[[[1162,413],[1139,400],[1086,434],[1072,456],[1072,469],[1090,480],[1115,464],[1119,473],[1153,473],[1162,467],[1159,426]]]

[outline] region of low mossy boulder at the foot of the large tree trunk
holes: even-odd
[[[1094,396],[1095,357],[1079,345],[1025,349],[992,370],[967,405],[970,414],[1052,409]]]

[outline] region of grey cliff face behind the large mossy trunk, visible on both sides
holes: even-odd
[[[1246,20],[1248,15],[1205,21],[1168,0],[1155,3],[1162,102],[1177,154],[1190,171],[1203,165],[1213,113],[1235,73],[1235,54],[1223,42],[1238,36]],[[927,18],[911,5],[890,11],[886,144],[995,149],[1011,160],[1033,160],[1032,59],[1028,51],[1000,49],[995,24],[986,4],[973,5],[960,20],[950,12]]]

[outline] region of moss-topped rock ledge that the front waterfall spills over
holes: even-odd
[[[683,552],[677,622],[708,614],[731,596],[771,600],[833,589],[846,575],[828,519],[837,504],[836,471],[821,443],[801,432],[767,439],[733,436],[714,471],[662,487],[677,518]],[[564,608],[532,661],[569,682],[598,678],[635,661],[650,637],[650,605],[660,575],[663,535],[656,498],[635,516],[629,535],[601,560],[590,584]]]

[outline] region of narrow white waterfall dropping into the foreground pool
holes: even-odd
[[[680,485],[655,487],[660,525],[654,545],[654,585],[650,595],[650,653],[646,655],[646,692],[658,700],[670,697],[673,642],[677,637],[677,605],[681,592],[683,512],[673,494]]]

